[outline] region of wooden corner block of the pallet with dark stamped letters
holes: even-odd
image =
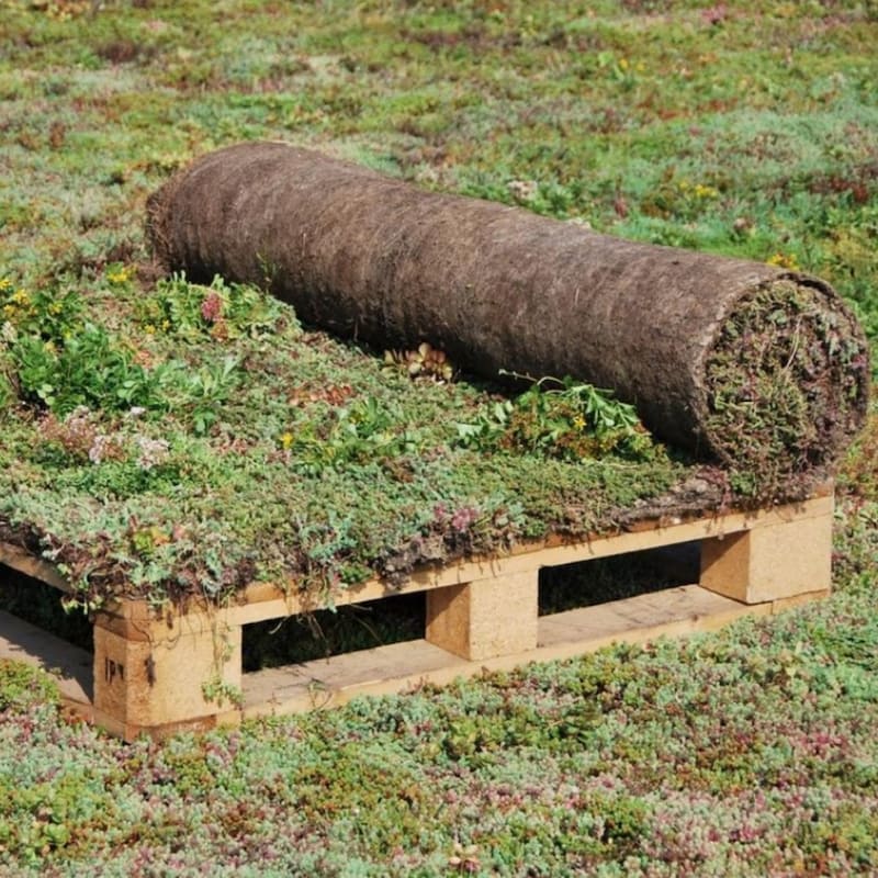
[[[168,623],[101,612],[94,623],[94,717],[133,740],[140,731],[232,721],[241,691],[241,628],[217,615]]]

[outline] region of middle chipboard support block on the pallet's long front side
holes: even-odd
[[[462,658],[493,658],[537,645],[538,571],[475,579],[427,593],[426,640]]]

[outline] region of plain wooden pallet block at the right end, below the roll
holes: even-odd
[[[744,604],[828,593],[832,581],[832,498],[803,504],[787,521],[701,543],[700,585]]]

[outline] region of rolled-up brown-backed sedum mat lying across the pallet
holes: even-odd
[[[267,285],[305,322],[426,340],[483,375],[611,389],[660,437],[738,470],[824,468],[865,417],[865,336],[799,272],[427,193],[281,143],[180,172],[149,200],[148,232],[191,280]]]

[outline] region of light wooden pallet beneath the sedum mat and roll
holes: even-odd
[[[143,600],[119,600],[97,614],[93,660],[0,614],[0,657],[60,667],[69,703],[125,740],[209,729],[419,682],[441,684],[483,668],[565,658],[614,642],[711,630],[823,597],[832,518],[830,492],[755,513],[653,520],[576,543],[522,544],[505,555],[418,571],[402,587],[372,581],[337,593],[334,603],[425,592],[425,638],[285,668],[243,674],[243,627],[319,607],[268,584],[248,587],[224,608],[193,603],[184,611],[157,612]],[[701,549],[698,584],[538,617],[541,567],[695,540]],[[66,588],[54,567],[14,547],[0,543],[0,562]]]

